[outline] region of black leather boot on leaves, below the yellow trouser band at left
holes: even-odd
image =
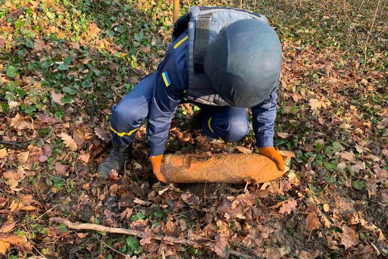
[[[119,173],[125,165],[125,162],[132,156],[132,143],[126,147],[119,147],[113,143],[113,148],[108,157],[99,164],[97,173],[101,174],[103,178],[108,178],[109,173],[114,169]]]

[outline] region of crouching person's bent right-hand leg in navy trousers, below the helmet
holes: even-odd
[[[210,138],[236,142],[249,133],[246,108],[203,106],[202,130]]]

